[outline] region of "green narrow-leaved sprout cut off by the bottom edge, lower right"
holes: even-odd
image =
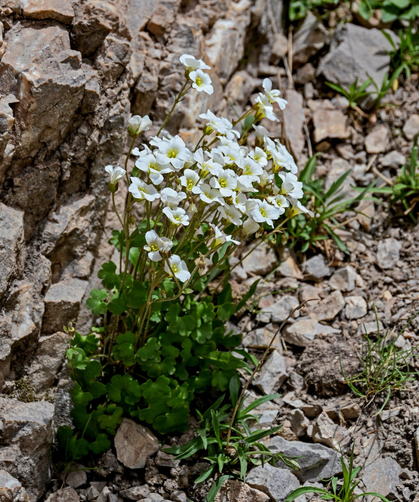
[[[355,488],[358,486],[359,481],[355,481],[355,477],[361,470],[361,466],[353,466],[354,460],[354,447],[355,443],[352,445],[351,455],[349,457],[349,468],[346,466],[343,453],[341,452],[340,462],[342,464],[343,480],[340,482],[341,486],[338,486],[339,479],[336,476],[330,478],[330,484],[332,485],[332,491],[324,490],[323,488],[317,488],[315,486],[302,486],[292,491],[285,502],[292,502],[300,495],[305,493],[319,493],[320,498],[323,500],[335,500],[335,502],[353,502],[357,498],[364,497],[367,495],[378,497],[383,502],[389,502],[389,500],[379,493],[372,491],[367,491],[364,493],[355,493]]]

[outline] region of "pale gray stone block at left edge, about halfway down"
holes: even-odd
[[[0,301],[25,261],[23,212],[0,202]]]

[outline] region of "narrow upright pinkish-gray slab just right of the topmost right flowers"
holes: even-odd
[[[287,89],[284,97],[287,99],[288,104],[283,111],[283,127],[290,143],[291,153],[298,162],[305,144],[303,96],[294,89]]]

